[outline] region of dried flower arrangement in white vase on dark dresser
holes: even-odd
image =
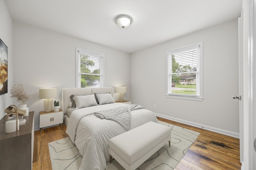
[[[30,95],[25,91],[22,84],[19,85],[13,85],[12,89],[10,90],[11,97],[14,97],[17,99],[18,102],[20,102],[21,105],[26,104],[28,99],[32,99]]]

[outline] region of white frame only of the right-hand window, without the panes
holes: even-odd
[[[199,95],[184,95],[177,93],[169,93],[170,84],[170,74],[172,75],[172,61],[170,62],[170,55],[173,53],[177,53],[179,51],[185,51],[189,49],[198,48],[198,56],[197,56],[197,71],[198,75],[196,76],[196,88],[199,91]],[[169,65],[170,63],[170,65]],[[194,100],[194,101],[203,101],[203,42],[197,42],[190,45],[184,45],[182,47],[177,47],[174,49],[166,50],[166,98],[174,98],[174,99],[185,99],[185,100]]]

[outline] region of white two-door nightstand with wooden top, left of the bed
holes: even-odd
[[[44,127],[60,124],[62,128],[63,123],[63,111],[60,109],[58,112],[50,111],[40,112],[40,134]]]

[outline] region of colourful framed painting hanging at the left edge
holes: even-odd
[[[0,39],[0,95],[8,91],[8,47]]]

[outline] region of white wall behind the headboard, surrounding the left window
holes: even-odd
[[[39,88],[57,88],[58,97],[54,100],[61,101],[62,88],[76,87],[76,47],[104,53],[105,86],[127,86],[125,99],[130,100],[128,53],[14,22],[14,83],[23,84],[32,95],[27,107],[35,111],[35,130],[39,128],[39,112],[44,110]]]

